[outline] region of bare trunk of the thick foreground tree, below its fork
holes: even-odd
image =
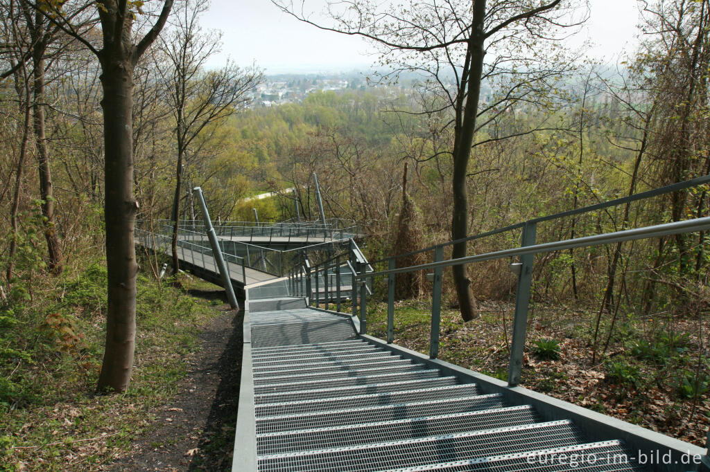
[[[133,231],[138,202],[133,197],[133,64],[121,59],[117,52],[104,54],[101,105],[104,111],[104,213],[109,286],[106,351],[98,389],[123,392],[131,380],[136,341],[138,264]]]

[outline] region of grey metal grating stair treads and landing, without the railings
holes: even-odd
[[[648,470],[620,440],[370,342],[346,315],[304,302],[250,310],[248,329],[258,471]]]

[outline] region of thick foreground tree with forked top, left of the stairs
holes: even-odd
[[[133,232],[138,201],[133,196],[133,71],[165,26],[173,0],[160,1],[155,11],[144,10],[145,2],[138,0],[23,1],[87,47],[101,65],[108,306],[106,347],[97,389],[123,392],[131,380],[136,342],[138,264]],[[146,33],[136,42],[136,21],[146,23],[151,16],[155,18],[152,26],[144,24]],[[100,35],[96,34],[96,25],[100,26]]]

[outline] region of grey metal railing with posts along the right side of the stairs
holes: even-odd
[[[567,249],[574,249],[577,247],[592,247],[599,245],[607,245],[616,242],[623,242],[629,240],[639,240],[647,239],[652,237],[664,237],[668,235],[677,235],[686,232],[698,232],[710,230],[710,217],[705,218],[695,218],[693,220],[677,221],[673,223],[662,223],[659,225],[650,225],[647,227],[640,227],[630,230],[620,230],[615,232],[606,232],[599,235],[591,235],[585,237],[576,237],[569,240],[559,240],[555,242],[546,242],[537,244],[535,241],[537,232],[537,223],[547,220],[553,220],[557,218],[563,218],[570,215],[578,215],[581,213],[588,213],[594,210],[600,210],[603,208],[608,208],[611,206],[618,206],[624,203],[639,201],[645,198],[650,198],[652,196],[659,196],[665,193],[670,193],[673,191],[679,191],[684,189],[689,189],[694,186],[700,186],[710,183],[710,176],[703,176],[697,179],[692,179],[689,181],[680,182],[671,186],[662,187],[660,189],[655,189],[652,191],[647,191],[643,193],[638,193],[625,198],[617,198],[616,200],[598,203],[596,205],[579,208],[577,210],[569,210],[562,213],[557,213],[555,215],[544,216],[541,218],[535,218],[523,223],[518,223],[516,225],[510,225],[507,227],[500,228],[498,230],[493,230],[489,232],[484,232],[479,235],[474,235],[465,238],[466,241],[476,240],[482,237],[488,237],[491,235],[498,235],[503,232],[510,230],[521,229],[520,235],[520,247],[515,247],[513,249],[503,249],[493,252],[486,252],[484,254],[475,254],[468,257],[461,257],[459,259],[444,260],[444,247],[454,244],[454,242],[445,242],[439,245],[428,247],[426,249],[421,249],[417,252],[412,252],[409,254],[402,254],[400,256],[388,257],[386,259],[381,259],[377,262],[388,262],[388,269],[381,271],[368,271],[367,268],[370,264],[365,264],[364,266],[356,266],[354,262],[351,262],[352,257],[347,261],[347,270],[350,271],[352,280],[354,283],[351,286],[352,292],[352,314],[353,316],[359,315],[360,319],[360,332],[361,334],[366,334],[367,332],[367,297],[372,294],[371,291],[371,281],[376,277],[386,277],[387,278],[387,342],[391,343],[394,340],[394,287],[395,287],[395,274],[404,274],[407,272],[414,271],[432,271],[432,273],[427,274],[428,278],[433,282],[432,287],[432,318],[431,318],[431,335],[430,335],[430,357],[435,359],[439,354],[439,325],[440,325],[440,315],[441,315],[441,297],[442,297],[442,281],[443,281],[443,269],[444,267],[457,266],[463,264],[471,264],[474,262],[484,262],[495,259],[505,259],[511,257],[518,257],[519,262],[514,262],[510,264],[510,269],[518,275],[517,290],[515,293],[515,317],[513,320],[513,339],[510,345],[510,362],[508,364],[508,385],[517,386],[520,383],[520,373],[523,366],[523,349],[525,347],[525,336],[528,324],[528,305],[530,303],[530,288],[532,284],[532,270],[533,263],[535,259],[535,254],[543,254],[548,252],[558,252]],[[463,240],[459,240],[461,242]],[[417,254],[420,252],[433,251],[434,252],[434,262],[428,264],[420,264],[416,266],[407,267],[396,267],[396,261],[400,257],[404,257],[410,254]],[[294,274],[295,286],[300,286],[303,284],[306,286],[305,293],[310,294],[312,290],[310,284],[312,280],[318,283],[320,280],[324,280],[324,283],[329,282],[329,271],[333,271],[334,266],[338,267],[338,271],[335,274],[339,274],[339,267],[341,260],[336,258],[333,264],[324,264],[323,266],[317,266],[314,269],[308,267],[303,267],[300,274]],[[371,264],[376,264],[373,262]],[[324,272],[324,276],[321,276],[321,272]],[[340,281],[335,282],[337,285],[341,283]],[[326,285],[325,291],[329,293],[328,285]],[[340,287],[336,287],[337,293],[340,293]],[[315,293],[320,293],[319,289],[316,288]],[[359,303],[358,303],[359,299]],[[340,297],[337,296],[337,310],[340,311]],[[318,306],[319,298],[316,296],[315,305]],[[311,302],[311,303],[313,303]],[[328,298],[325,300],[325,308],[328,308]]]

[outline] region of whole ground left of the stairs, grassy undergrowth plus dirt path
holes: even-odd
[[[106,269],[76,273],[0,304],[0,471],[231,470],[242,318],[224,291],[140,274],[131,383],[100,395]]]

